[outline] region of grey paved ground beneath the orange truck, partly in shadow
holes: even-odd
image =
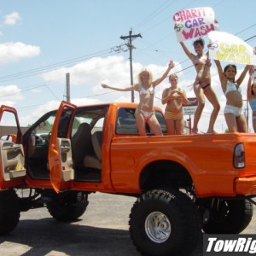
[[[0,236],[4,256],[137,256],[128,219],[134,198],[96,193],[79,221],[55,221],[45,208],[21,212],[20,223],[7,236]],[[256,217],[255,217],[256,218]],[[256,221],[243,233],[255,233]],[[202,256],[202,235],[191,256]]]

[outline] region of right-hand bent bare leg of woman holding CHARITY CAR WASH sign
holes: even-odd
[[[212,104],[212,107],[213,107],[207,133],[215,133],[214,124],[218,117],[218,112],[220,109],[220,106],[218,103],[218,98],[217,98],[214,90],[212,90],[211,86],[209,86],[206,90],[204,90],[204,93],[205,93],[205,96],[207,96],[208,101]]]

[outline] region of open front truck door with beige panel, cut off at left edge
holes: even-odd
[[[0,189],[9,189],[24,184],[26,177],[22,134],[15,108],[1,106],[0,125]],[[12,127],[15,132],[9,132],[8,127]]]

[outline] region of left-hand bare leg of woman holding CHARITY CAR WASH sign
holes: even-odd
[[[194,125],[192,128],[192,132],[197,132],[198,131],[198,123],[199,120],[201,119],[201,113],[203,109],[205,108],[205,96],[203,94],[203,90],[201,89],[201,86],[199,84],[194,85],[194,92],[195,96],[198,101],[198,106],[195,109],[195,116],[194,116]]]

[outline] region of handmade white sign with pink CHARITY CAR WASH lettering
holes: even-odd
[[[203,37],[208,32],[218,30],[218,22],[210,7],[179,11],[173,15],[173,20],[178,42]]]

